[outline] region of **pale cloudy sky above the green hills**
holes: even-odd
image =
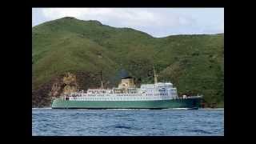
[[[224,33],[224,8],[32,8],[32,26],[62,17],[129,27],[156,38]]]

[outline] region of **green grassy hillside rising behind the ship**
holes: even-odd
[[[106,86],[118,85],[121,70],[139,86],[154,81],[153,66],[178,94],[203,94],[207,103],[224,105],[224,34],[154,38],[70,17],[32,28],[35,106],[50,106],[49,91],[67,72],[76,75],[79,89],[100,86],[100,70]]]

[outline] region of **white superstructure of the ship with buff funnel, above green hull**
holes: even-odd
[[[86,92],[71,93],[65,96],[70,101],[155,101],[178,98],[177,89],[170,82],[158,82],[154,73],[154,84],[134,85],[134,79],[122,78],[118,87],[113,89],[89,89]]]

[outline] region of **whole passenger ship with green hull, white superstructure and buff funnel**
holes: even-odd
[[[102,79],[102,71],[101,71]],[[136,88],[134,78],[121,78],[118,87],[106,89],[101,81],[98,89],[80,90],[53,98],[52,109],[195,109],[200,107],[201,95],[178,96],[171,82],[158,82]]]

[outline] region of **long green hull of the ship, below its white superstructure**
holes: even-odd
[[[53,109],[168,109],[195,108],[200,106],[201,98],[172,99],[158,101],[66,101],[54,99]]]

